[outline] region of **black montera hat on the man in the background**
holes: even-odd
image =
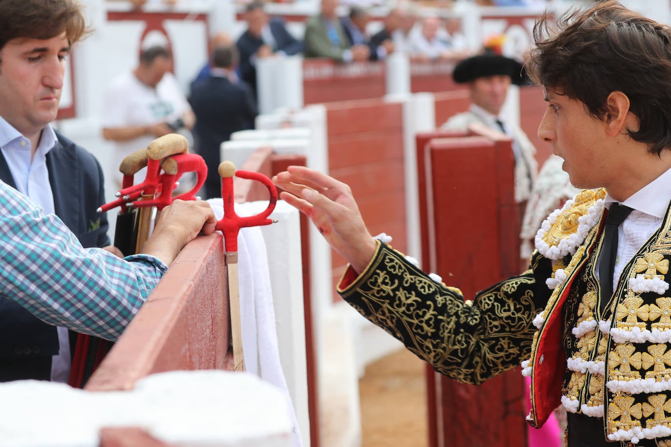
[[[498,54],[478,54],[459,62],[452,72],[454,82],[463,84],[485,76],[507,74],[513,84],[524,83],[525,74],[523,66],[517,60],[499,56]]]

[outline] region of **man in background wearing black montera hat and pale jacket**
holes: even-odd
[[[462,60],[454,68],[452,77],[454,82],[468,84],[472,103],[467,112],[448,119],[442,129],[465,131],[472,123],[479,123],[513,139],[515,200],[520,204],[520,214],[523,214],[536,178],[536,149],[519,126],[513,124],[509,117],[501,115],[508,87],[511,83],[519,85],[523,82],[521,71],[519,62],[496,54],[479,54]]]

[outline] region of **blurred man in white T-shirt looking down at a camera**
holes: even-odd
[[[105,94],[103,138],[115,143],[115,166],[153,139],[193,127],[195,115],[171,68],[168,49],[152,46],[140,53],[132,72],[111,82]]]

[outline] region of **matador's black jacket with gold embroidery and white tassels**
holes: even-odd
[[[602,297],[604,197],[584,190],[556,210],[529,270],[473,301],[384,243],[360,275],[346,271],[338,291],[452,379],[477,384],[522,364],[532,426],[564,405],[600,418],[614,446],[671,447],[671,212],[624,267],[613,296]]]

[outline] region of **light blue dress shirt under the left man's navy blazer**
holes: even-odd
[[[56,133],[49,125],[42,131],[35,155],[30,157],[30,140],[5,119],[0,117],[0,150],[16,188],[36,204],[44,208],[45,214],[54,214],[54,194],[46,168],[46,154],[56,145]],[[52,381],[66,383],[70,377],[70,340],[66,328],[58,328],[58,355],[51,363]]]

